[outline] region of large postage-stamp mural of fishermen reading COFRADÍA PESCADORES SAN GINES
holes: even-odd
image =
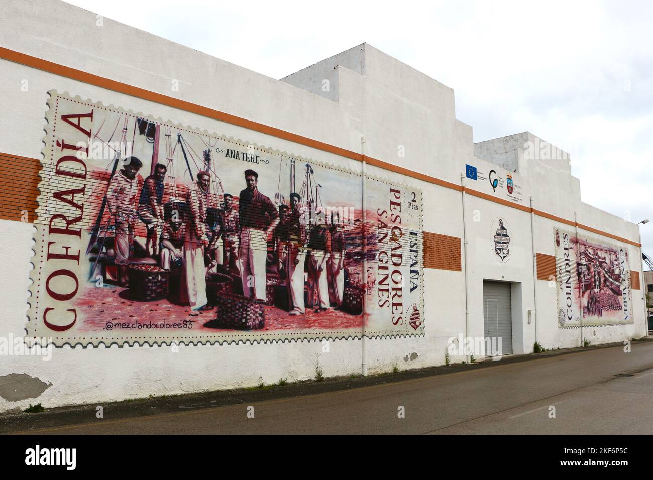
[[[424,333],[419,189],[367,176],[363,212],[360,170],[50,96],[30,336]]]

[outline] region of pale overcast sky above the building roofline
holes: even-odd
[[[653,220],[653,2],[69,3],[273,78],[368,42],[453,88],[475,142],[531,131],[571,153],[584,202]]]

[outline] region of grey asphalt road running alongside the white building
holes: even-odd
[[[617,345],[354,389],[180,410],[135,418],[106,415],[93,423],[29,433],[652,434],[653,342],[633,344],[631,353]]]

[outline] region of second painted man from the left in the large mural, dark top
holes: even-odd
[[[138,198],[138,218],[145,224],[148,232],[145,249],[148,255],[151,252],[153,256],[157,254],[157,233],[163,226],[163,180],[167,170],[163,163],[157,163],[154,173],[143,182]]]

